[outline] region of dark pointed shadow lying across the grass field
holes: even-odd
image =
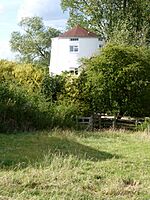
[[[7,136],[8,137],[8,136]],[[105,151],[99,151],[93,147],[86,146],[77,141],[57,136],[26,136],[11,143],[3,143],[0,147],[0,168],[10,169],[16,166],[25,168],[30,164],[42,163],[44,156],[73,155],[78,159],[104,161],[112,158],[119,158],[118,155]]]

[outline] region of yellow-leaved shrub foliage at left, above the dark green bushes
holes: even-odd
[[[22,86],[30,93],[38,92],[46,71],[32,64],[0,61],[0,81]]]

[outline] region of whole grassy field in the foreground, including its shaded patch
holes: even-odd
[[[150,136],[0,134],[0,200],[150,200]]]

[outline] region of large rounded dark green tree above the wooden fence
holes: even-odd
[[[148,49],[109,44],[100,55],[84,61],[79,79],[79,98],[91,111],[118,113],[120,117],[150,115]]]

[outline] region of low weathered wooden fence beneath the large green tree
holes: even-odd
[[[135,130],[137,126],[144,122],[144,119],[116,119],[112,116],[93,115],[90,117],[77,117],[78,126],[89,130],[95,129],[127,129]]]

